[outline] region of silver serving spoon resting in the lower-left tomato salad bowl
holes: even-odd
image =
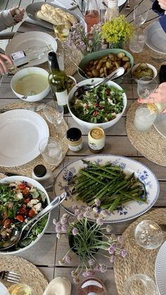
[[[47,213],[49,213],[53,208],[56,208],[60,203],[62,203],[67,197],[67,193],[63,192],[63,194],[60,194],[60,196],[56,196],[51,203],[49,203],[46,208],[44,208],[39,214],[34,216],[30,221],[28,221],[21,230],[18,230],[15,228],[15,231],[13,232],[13,236],[8,239],[8,241],[0,241],[0,251],[6,250],[8,248],[11,248],[14,246],[18,241],[25,239],[28,234],[30,233],[30,230],[32,230],[32,227],[41,219],[43,218]],[[25,229],[27,231],[25,232]],[[25,233],[24,233],[25,232]]]

